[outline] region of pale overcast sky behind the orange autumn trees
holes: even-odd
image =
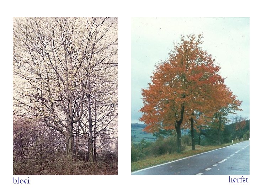
[[[155,64],[168,58],[180,36],[202,34],[204,50],[219,63],[225,84],[242,101],[239,116],[249,119],[248,17],[133,17],[132,123],[139,122],[141,89],[148,87]]]

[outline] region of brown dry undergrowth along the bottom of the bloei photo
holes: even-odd
[[[80,159],[26,159],[13,162],[13,175],[117,175],[117,161],[86,162]]]

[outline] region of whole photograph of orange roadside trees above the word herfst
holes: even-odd
[[[132,18],[132,175],[250,174],[249,23]]]

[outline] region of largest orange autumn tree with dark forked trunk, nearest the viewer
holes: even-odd
[[[156,66],[152,83],[148,89],[142,89],[144,105],[140,109],[143,113],[140,121],[147,125],[146,132],[160,128],[176,130],[178,153],[182,122],[191,121],[193,127],[195,110],[213,114],[223,106],[218,102],[224,87],[219,66],[200,47],[202,35],[187,39],[181,37],[181,43],[174,44],[169,60]]]

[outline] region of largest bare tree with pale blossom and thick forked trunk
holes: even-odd
[[[14,114],[62,133],[67,158],[91,74],[115,66],[117,18],[14,18]]]

